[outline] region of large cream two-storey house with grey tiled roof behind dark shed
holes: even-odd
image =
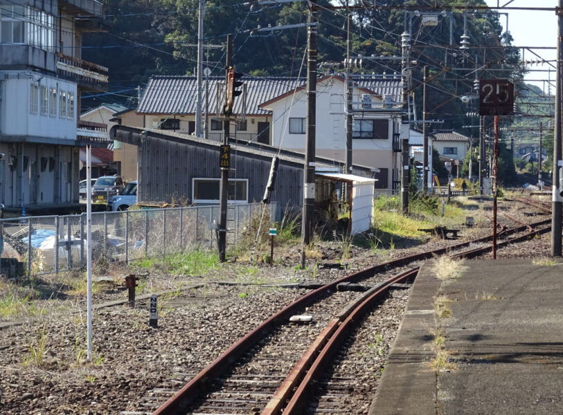
[[[305,80],[296,77],[242,77],[246,100],[235,99],[238,115],[231,138],[258,142],[289,151],[305,152]],[[355,110],[352,163],[372,169],[375,187],[400,187],[402,126],[400,77],[352,77]],[[195,77],[154,76],[141,95],[137,114],[151,131],[195,131]],[[224,77],[209,77],[204,86],[204,138],[221,141]],[[316,87],[316,155],[343,162],[346,158],[346,82],[340,75],[324,75]],[[208,96],[208,98],[206,98]]]

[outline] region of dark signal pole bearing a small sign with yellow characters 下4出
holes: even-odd
[[[227,85],[229,84],[229,70],[232,66],[233,54],[233,37],[232,35],[226,36],[226,59],[225,59],[225,102],[229,100],[229,93],[227,93]],[[223,120],[223,145],[221,146],[220,154],[229,155],[229,128],[231,127],[231,115],[226,113]],[[227,189],[229,188],[229,163],[223,165],[221,159],[221,181],[219,187],[220,194],[220,220],[219,220],[219,234],[217,238],[217,246],[219,247],[219,261],[225,261],[226,251],[226,210],[227,210]]]

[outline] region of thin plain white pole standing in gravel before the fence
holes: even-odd
[[[88,360],[92,359],[92,147],[86,146],[86,249],[87,249],[87,313]]]

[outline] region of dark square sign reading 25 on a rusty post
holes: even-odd
[[[514,113],[514,84],[509,80],[479,81],[479,115],[510,116]]]

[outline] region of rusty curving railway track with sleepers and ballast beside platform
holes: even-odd
[[[504,238],[499,248],[551,230],[551,219],[528,225],[506,217],[518,225],[499,230],[499,239]],[[211,365],[179,371],[177,378],[143,398],[145,412],[122,414],[280,414],[283,410],[287,415],[305,414],[307,408],[344,413],[357,379],[342,369],[346,363],[334,369],[332,362],[343,361],[339,356],[346,355],[342,349],[350,347],[350,333],[358,329],[357,323],[393,297],[389,295],[393,288],[408,287],[404,283],[414,279],[425,259],[443,254],[477,257],[490,251],[490,239],[395,259],[325,284],[269,317]],[[350,288],[369,289],[361,295],[343,291]],[[311,321],[289,322],[294,315],[309,315]],[[323,377],[329,372],[330,378]],[[180,385],[184,387],[178,391]]]

